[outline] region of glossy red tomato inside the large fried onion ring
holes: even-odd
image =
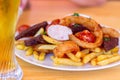
[[[75,34],[77,38],[80,40],[89,42],[89,43],[94,43],[95,42],[95,36],[88,30],[84,30],[82,32],[78,32]]]

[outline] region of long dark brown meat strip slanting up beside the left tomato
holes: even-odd
[[[46,21],[42,22],[42,23],[38,23],[36,25],[33,25],[32,27],[28,28],[27,30],[21,32],[20,34],[18,34],[15,37],[15,40],[18,40],[20,38],[23,37],[30,37],[30,36],[34,36],[36,34],[36,32],[41,28],[45,28],[48,25],[48,23]]]

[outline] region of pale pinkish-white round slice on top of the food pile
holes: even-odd
[[[72,34],[72,30],[62,25],[50,25],[47,28],[47,34],[56,40],[69,40],[69,35]]]

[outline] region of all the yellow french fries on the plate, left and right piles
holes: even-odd
[[[43,33],[44,29],[41,28],[35,36]],[[24,50],[26,52],[26,56],[33,55],[35,59],[43,61],[49,51],[53,51],[57,44],[62,43],[53,38],[50,38],[47,35],[43,35],[43,38],[46,42],[50,44],[39,44],[35,47],[27,47],[25,46],[23,40],[18,40],[15,42],[15,45],[17,49]],[[81,51],[78,51],[76,54],[67,53],[66,58],[58,58],[55,56],[51,56],[51,59],[53,60],[55,65],[82,66],[90,63],[92,66],[104,66],[120,60],[120,55],[118,51],[118,47],[115,47],[108,52],[105,52],[104,49],[97,47],[94,49],[83,49]]]

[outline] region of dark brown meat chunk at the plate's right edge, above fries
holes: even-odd
[[[103,40],[103,48],[105,49],[105,51],[109,51],[113,48],[115,48],[116,46],[118,46],[118,38],[113,38],[113,37],[105,37]]]

